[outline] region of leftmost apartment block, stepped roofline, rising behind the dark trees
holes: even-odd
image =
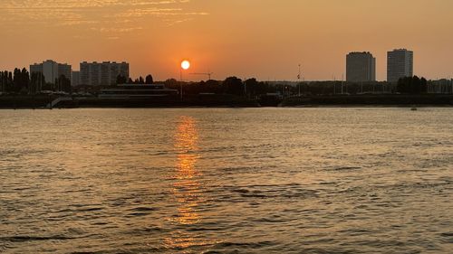
[[[30,73],[42,73],[47,83],[54,83],[61,76],[71,80],[71,72],[71,65],[52,60],[30,65]]]

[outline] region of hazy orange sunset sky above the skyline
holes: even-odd
[[[0,70],[52,59],[128,61],[154,80],[212,71],[258,80],[341,80],[348,52],[414,51],[414,74],[453,77],[451,0],[0,0]],[[185,80],[207,79],[184,73]]]

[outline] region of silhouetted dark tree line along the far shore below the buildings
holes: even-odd
[[[181,81],[170,79],[161,81],[169,89],[179,89]],[[153,84],[151,75],[144,79],[139,77],[132,80],[119,75],[117,84]],[[288,85],[278,82],[264,82],[256,79],[241,80],[237,77],[228,77],[226,80],[207,80],[200,82],[183,82],[185,94],[215,93],[233,94],[249,98],[259,97],[267,93],[278,93],[285,96],[325,96],[340,94],[366,94],[366,93],[394,93],[420,94],[428,91],[427,80],[419,77],[407,77],[400,79],[398,84],[388,82],[350,83],[342,81],[313,81],[300,82],[296,85]],[[25,68],[0,72],[0,91],[6,93],[35,94],[42,90],[71,92],[71,80],[61,76],[54,83],[46,83],[42,73],[30,73]]]

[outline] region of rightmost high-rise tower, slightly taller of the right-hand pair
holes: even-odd
[[[412,77],[414,52],[405,49],[387,52],[387,81],[398,82],[400,78]]]

